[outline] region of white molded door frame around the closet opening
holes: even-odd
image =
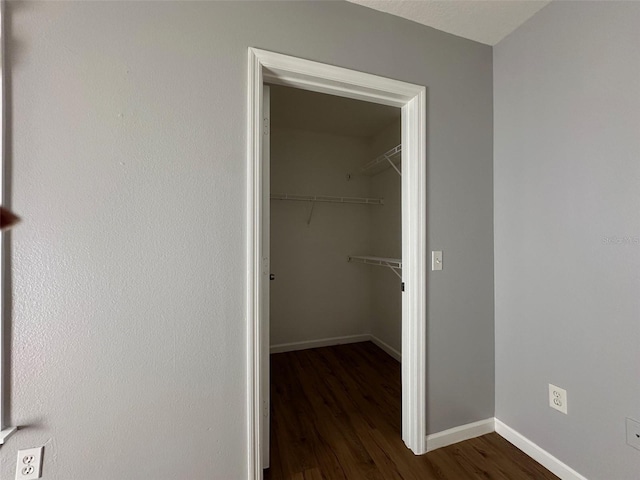
[[[402,439],[415,454],[427,451],[426,88],[419,85],[249,48],[247,125],[247,465],[262,479],[261,394],[264,82],[402,109]],[[268,346],[266,346],[268,348]]]

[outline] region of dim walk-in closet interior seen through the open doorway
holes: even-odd
[[[265,87],[267,98],[265,478],[365,476],[383,458],[378,443],[398,463],[393,453],[405,450],[401,112],[279,85]]]

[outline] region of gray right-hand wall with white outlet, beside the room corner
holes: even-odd
[[[552,2],[494,56],[496,415],[590,479],[640,471],[639,25]]]

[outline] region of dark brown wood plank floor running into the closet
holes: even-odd
[[[557,479],[492,433],[415,456],[400,437],[400,364],[371,342],[271,356],[265,479]]]

